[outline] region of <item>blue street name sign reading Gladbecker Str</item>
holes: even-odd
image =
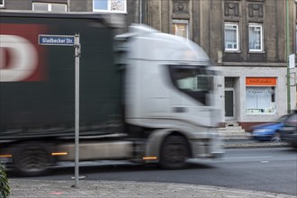
[[[40,45],[73,46],[75,45],[75,36],[40,34],[38,35],[38,43]]]

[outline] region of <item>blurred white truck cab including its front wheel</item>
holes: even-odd
[[[132,25],[115,40],[124,51],[119,62],[125,73],[125,121],[142,129],[139,133],[149,130],[145,156],[169,168],[183,164],[172,163],[182,162],[183,152],[194,158],[220,156],[222,143],[215,132],[220,110],[204,50],[145,25]]]

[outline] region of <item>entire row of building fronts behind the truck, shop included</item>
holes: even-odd
[[[287,69],[297,51],[296,7],[295,0],[0,0],[10,10],[113,14],[121,31],[145,23],[195,41],[219,71],[222,122],[246,130],[296,108],[296,68]]]

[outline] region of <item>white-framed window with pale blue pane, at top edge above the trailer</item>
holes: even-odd
[[[127,13],[127,0],[93,0],[93,11]]]

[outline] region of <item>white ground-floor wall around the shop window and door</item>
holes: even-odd
[[[281,115],[287,113],[287,85],[286,67],[216,67],[220,70],[216,77],[215,91],[218,96],[218,105],[224,118],[224,78],[235,77],[235,120],[238,122],[275,121]],[[267,113],[246,112],[246,77],[277,77],[275,87],[276,111]],[[293,80],[292,80],[293,82]],[[296,87],[291,86],[291,109],[295,108]]]

